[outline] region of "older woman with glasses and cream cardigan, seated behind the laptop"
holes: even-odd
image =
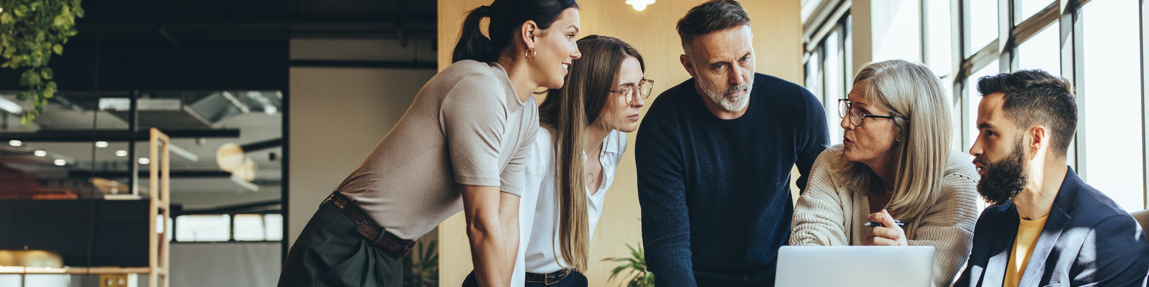
[[[839,100],[843,144],[815,161],[789,243],[933,246],[933,285],[949,286],[970,254],[979,177],[970,157],[950,148],[940,80],[920,63],[869,63],[848,96]]]

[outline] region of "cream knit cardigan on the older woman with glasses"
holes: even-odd
[[[827,148],[810,169],[810,181],[794,205],[791,223],[792,246],[859,246],[865,243],[870,227],[862,225],[870,216],[866,191],[848,191],[834,169],[842,158],[842,146]],[[933,286],[947,287],[954,281],[973,243],[973,226],[978,222],[980,177],[961,152],[950,153],[941,180],[938,202],[920,219],[905,223],[910,246],[933,246]]]

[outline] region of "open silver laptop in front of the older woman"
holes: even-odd
[[[928,287],[932,246],[784,246],[777,287]]]

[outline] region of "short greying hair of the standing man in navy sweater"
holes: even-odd
[[[711,0],[691,8],[686,16],[678,20],[678,37],[683,39],[683,51],[689,55],[694,37],[749,24],[750,16],[746,14],[742,3],[734,0]]]

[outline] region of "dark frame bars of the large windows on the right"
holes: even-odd
[[[919,7],[919,20],[920,20],[920,47],[923,61],[932,61],[930,57],[930,34],[928,28],[928,7],[930,0],[917,0]],[[974,72],[986,68],[994,61],[997,61],[997,70],[1000,72],[1010,72],[1018,69],[1018,47],[1020,44],[1030,40],[1038,33],[1042,32],[1046,28],[1054,29],[1056,23],[1056,29],[1059,34],[1061,40],[1061,76],[1069,79],[1074,88],[1077,90],[1077,99],[1079,110],[1084,110],[1084,107],[1090,104],[1089,94],[1084,87],[1088,85],[1084,77],[1084,25],[1081,22],[1081,9],[1088,5],[1092,0],[1054,0],[1044,8],[1039,10],[1036,14],[1031,15],[1025,18],[1018,18],[1018,9],[1020,8],[1021,0],[997,0],[997,39],[993,40],[984,47],[965,47],[966,42],[971,41],[970,30],[970,9],[972,0],[949,0],[950,5],[950,45],[951,45],[951,71],[940,72],[943,85],[953,85],[951,96],[953,96],[953,109],[954,113],[959,115],[957,118],[958,124],[955,129],[959,131],[958,139],[955,144],[961,145],[961,148],[969,149],[972,146],[974,138],[977,135],[967,134],[969,125],[976,114],[969,110],[971,107],[964,104],[970,95],[970,90],[976,88],[973,86],[966,85],[966,78]],[[865,1],[866,3],[869,1]],[[841,29],[842,24],[846,23],[846,18],[850,17],[850,7],[853,5],[851,0],[826,0],[819,3],[818,10],[813,11],[809,18],[803,23],[803,44],[804,54],[803,64],[811,64],[810,54],[820,53],[823,56],[818,57],[820,63],[815,63],[819,65],[819,71],[822,75],[822,87],[825,91],[828,85],[825,83],[825,41],[830,33],[835,29]],[[936,3],[934,3],[936,5]],[[1144,34],[1149,31],[1149,22],[1146,21],[1146,15],[1149,13],[1149,7],[1147,7],[1146,1],[1139,2],[1140,16],[1138,37],[1141,44],[1141,150],[1142,150],[1142,201],[1141,209],[1149,208],[1149,73],[1146,72],[1146,67],[1149,67],[1149,45],[1146,45]],[[1016,21],[1019,20],[1019,21]],[[1016,24],[1015,24],[1016,23]],[[843,33],[839,33],[842,38],[847,38],[853,33],[851,28],[848,25]],[[974,49],[974,51],[970,51]],[[970,56],[965,56],[967,52]],[[849,52],[847,52],[849,54]],[[846,55],[847,63],[843,71],[846,75],[843,79],[849,82],[853,78],[857,67],[851,67],[850,57],[851,55]],[[842,85],[846,87],[846,92],[849,91],[848,83]],[[827,96],[824,92],[822,98]],[[833,99],[831,99],[833,100]],[[824,101],[825,103],[825,101]],[[830,110],[827,110],[830,111]],[[830,114],[830,113],[827,113]],[[1067,164],[1073,166],[1078,174],[1088,180],[1089,166],[1086,164],[1086,146],[1088,145],[1088,139],[1086,139],[1086,131],[1084,129],[1085,122],[1088,121],[1085,116],[1079,116],[1078,131],[1071,144],[1070,155],[1067,158]],[[833,127],[833,125],[831,126]]]

